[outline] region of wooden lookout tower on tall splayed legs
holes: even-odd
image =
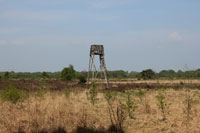
[[[99,56],[100,70],[96,68],[95,55]],[[88,84],[89,84],[90,78],[92,79],[92,81],[96,80],[99,73],[100,73],[99,77],[101,78],[102,78],[102,75],[104,75],[106,87],[109,88],[106,64],[105,64],[105,59],[104,59],[104,47],[103,45],[91,45],[89,70],[88,70]]]

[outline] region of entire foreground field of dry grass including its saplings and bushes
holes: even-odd
[[[123,91],[66,84],[71,87],[50,89],[49,84],[38,83],[33,84],[37,90],[19,89],[16,84],[1,89],[0,132],[200,132],[200,89],[187,88],[186,82],[179,89],[140,87]]]

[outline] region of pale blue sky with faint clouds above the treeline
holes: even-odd
[[[0,0],[0,71],[200,68],[199,0]]]

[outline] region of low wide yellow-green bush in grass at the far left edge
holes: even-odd
[[[17,89],[14,85],[9,85],[5,90],[1,92],[1,99],[4,101],[10,101],[16,104],[18,101],[27,97],[27,93],[23,90]]]

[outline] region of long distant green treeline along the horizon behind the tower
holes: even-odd
[[[162,70],[160,72],[155,72],[152,69],[143,70],[142,72],[137,71],[124,71],[124,70],[116,70],[116,71],[108,71],[108,77],[110,79],[123,79],[123,78],[137,78],[137,79],[188,79],[200,78],[200,69],[197,70],[188,70],[188,71],[174,71],[174,70]],[[101,73],[97,75],[97,78],[100,78]],[[0,79],[38,79],[38,78],[50,78],[50,79],[72,79],[78,77],[87,77],[87,71],[75,71],[73,66],[64,68],[62,71],[58,72],[0,72]]]

